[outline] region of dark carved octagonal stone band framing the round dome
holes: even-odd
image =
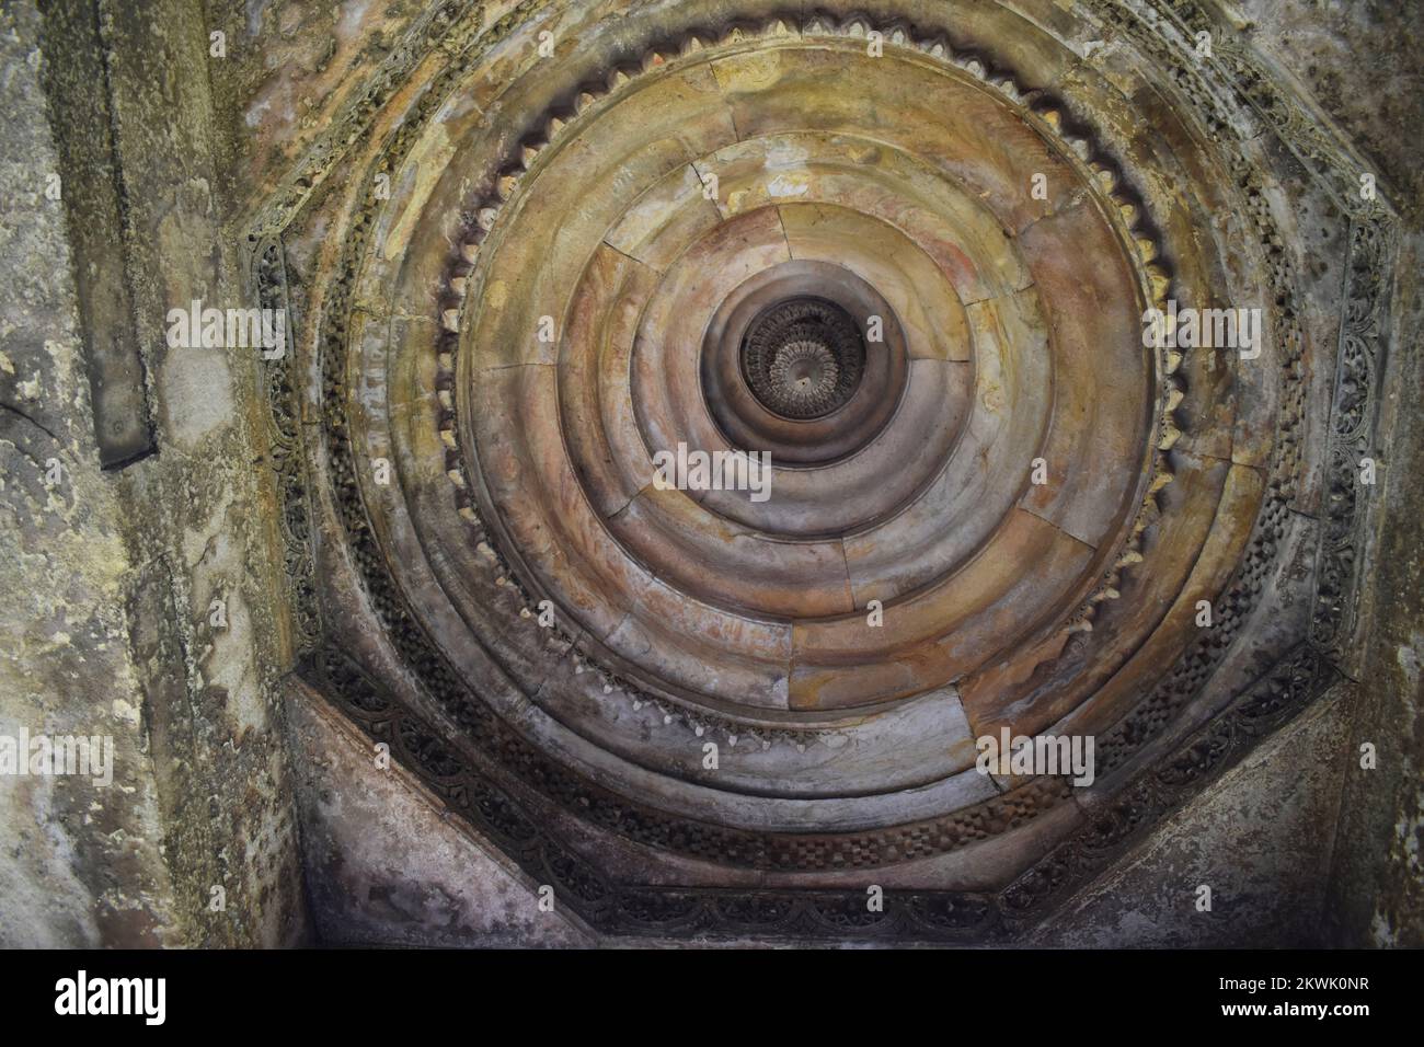
[[[537,6],[520,4],[520,9],[503,21],[513,26],[527,14],[525,9]],[[1179,60],[1185,48],[1173,50],[1173,43],[1185,43],[1198,27],[1212,27],[1205,13],[1193,3],[1180,0],[1168,4],[1162,0],[1143,0],[1119,6],[1108,0],[1091,0],[1089,6],[1106,24],[1131,36],[1146,53],[1156,51],[1163,61],[1179,67],[1178,83],[1189,85],[1185,90],[1198,103],[1198,115],[1205,113],[1205,121],[1213,134],[1220,134],[1229,127],[1229,108],[1218,97],[1220,85],[1209,84],[1199,68]],[[402,48],[387,60],[376,83],[357,98],[359,104],[352,107],[337,128],[333,128],[333,132],[303,158],[292,184],[303,185],[305,189],[293,192],[289,187],[289,191],[279,194],[278,199],[271,201],[259,215],[252,226],[251,242],[255,244],[252,283],[261,305],[288,303],[281,231],[298,215],[309,198],[310,187],[339,160],[342,148],[359,138],[365,120],[379,108],[376,98],[382,94],[382,84],[389,98],[392,84],[402,78],[397,71],[400,64],[409,61],[406,67],[409,73],[416,60],[423,57],[420,40],[424,38],[430,50],[449,47],[449,43],[444,43],[449,38],[444,31],[450,26],[470,24],[463,16],[471,9],[477,10],[480,6],[446,3],[422,19],[412,33],[409,50]],[[471,33],[477,31],[477,21],[476,19]],[[434,26],[444,28],[436,33]],[[857,892],[651,890],[612,883],[604,880],[597,870],[577,868],[572,852],[562,849],[557,840],[537,839],[521,843],[508,836],[501,839],[498,825],[487,821],[488,811],[484,808],[476,811],[463,803],[459,793],[450,792],[450,782],[437,773],[454,773],[451,768],[439,764],[434,769],[427,766],[433,759],[431,754],[439,751],[436,735],[423,735],[417,726],[409,736],[416,741],[422,736],[427,741],[434,739],[437,748],[433,751],[403,744],[399,752],[404,762],[451,806],[463,809],[476,825],[480,825],[484,815],[484,828],[491,830],[501,849],[507,849],[535,875],[551,873],[565,892],[578,899],[581,912],[585,912],[590,922],[605,930],[669,936],[759,933],[792,937],[852,937],[863,933],[871,939],[987,942],[1012,937],[1024,929],[1025,922],[1041,919],[1048,906],[1111,865],[1148,826],[1236,762],[1260,736],[1283,724],[1330,687],[1349,687],[1340,682],[1339,665],[1350,662],[1350,638],[1357,625],[1353,610],[1354,594],[1360,580],[1358,564],[1368,553],[1371,513],[1368,506],[1360,504],[1357,499],[1329,497],[1329,490],[1351,489],[1353,462],[1370,449],[1374,436],[1377,385],[1387,349],[1386,318],[1394,262],[1396,219],[1383,201],[1367,207],[1351,199],[1349,189],[1356,184],[1363,167],[1347,147],[1334,141],[1330,131],[1319,125],[1316,115],[1306,105],[1274,83],[1269,67],[1263,66],[1259,56],[1235,41],[1219,47],[1218,54],[1213,63],[1215,71],[1222,75],[1227,90],[1253,110],[1270,115],[1267,127],[1350,217],[1349,278],[1344,288],[1340,350],[1330,407],[1327,497],[1323,504],[1316,607],[1309,641],[1296,645],[1256,685],[1239,695],[1223,715],[1198,729],[1185,745],[1175,749],[1171,758],[1162,761],[1159,769],[1138,773],[1109,802],[1095,805],[1089,799],[1089,825],[1045,855],[998,895],[890,892],[886,912],[879,920],[866,919],[863,896]],[[342,148],[333,148],[333,142],[343,134],[346,138]],[[309,172],[313,164],[318,168],[316,178]],[[1255,202],[1260,211],[1256,218],[1269,221],[1269,205],[1259,192],[1255,194]],[[1289,281],[1289,258],[1279,245],[1276,255],[1267,259],[1267,266],[1273,275],[1283,275]],[[292,362],[269,363],[265,376],[272,409],[268,429],[273,446],[273,467],[283,494],[281,523],[293,597],[293,654],[305,652],[300,674],[323,694],[340,702],[353,719],[376,736],[383,729],[392,729],[380,728],[379,724],[396,722],[396,719],[370,719],[372,709],[362,709],[362,697],[379,695],[379,689],[360,670],[346,661],[345,655],[323,647],[312,571],[310,507],[306,503],[309,494],[302,454],[300,407],[293,387]],[[1267,537],[1273,530],[1279,533],[1279,527],[1273,527],[1269,519],[1263,520],[1263,524]],[[1270,564],[1269,547],[1269,540],[1263,546],[1257,546],[1255,540],[1252,543],[1257,563],[1243,564],[1246,584],[1245,587],[1240,584],[1242,575],[1239,575],[1235,587],[1242,598],[1239,605],[1227,611],[1237,621],[1249,611],[1253,590]],[[1252,575],[1256,575],[1255,585]],[[1219,648],[1226,645],[1212,642]],[[326,661],[328,658],[336,658],[337,662]],[[355,675],[332,677],[330,667],[342,661],[346,661],[347,674]],[[1163,681],[1163,688],[1153,699],[1142,702],[1119,722],[1121,745],[1125,749],[1135,748],[1141,744],[1142,731],[1155,735],[1152,722],[1156,721],[1159,731],[1162,724],[1171,719],[1171,708],[1183,704],[1185,697],[1195,694],[1209,677],[1212,661],[1209,652],[1189,652],[1176,671]],[[325,668],[316,668],[318,665]],[[1173,697],[1176,701],[1172,701]],[[404,714],[406,718],[409,715]],[[471,768],[460,768],[459,773],[470,773],[480,781]],[[468,791],[464,795],[470,795]],[[500,799],[500,802],[508,801]],[[597,887],[600,883],[601,890]]]

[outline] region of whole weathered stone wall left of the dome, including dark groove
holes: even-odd
[[[244,305],[206,31],[185,3],[57,3],[43,19],[14,3],[0,17],[19,292],[0,333],[0,570],[19,641],[0,708],[10,732],[114,738],[108,788],[4,783],[0,937],[296,942],[305,903],[275,687],[288,655],[255,359],[165,340],[172,306]],[[95,135],[105,110],[108,135]],[[57,171],[63,199],[50,201]],[[157,453],[105,472],[88,375],[108,348],[138,355],[140,424],[151,419]]]

